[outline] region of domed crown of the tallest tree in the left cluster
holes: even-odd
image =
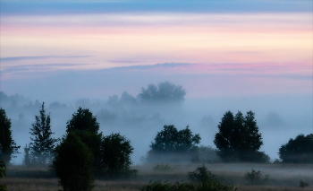
[[[97,123],[97,118],[93,116],[89,109],[79,108],[77,112],[72,115],[72,119],[67,121],[66,132],[69,133],[72,130],[97,133],[99,130],[99,123]]]

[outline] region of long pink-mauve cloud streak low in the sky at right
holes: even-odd
[[[311,69],[310,65],[294,64],[192,64],[163,63],[157,65],[131,65],[103,69],[104,72],[153,72],[161,74],[245,74],[263,77],[283,77],[308,80],[312,74],[303,73]]]

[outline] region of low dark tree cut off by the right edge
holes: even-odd
[[[279,158],[288,163],[313,163],[313,134],[297,135],[279,149]]]

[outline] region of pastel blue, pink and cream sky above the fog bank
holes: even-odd
[[[190,96],[209,93],[195,77],[177,79],[312,93],[312,9],[312,1],[1,1],[1,89],[52,73],[150,71],[163,77],[140,84],[172,80]]]

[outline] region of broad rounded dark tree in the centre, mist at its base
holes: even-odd
[[[173,125],[164,126],[162,131],[157,132],[155,142],[150,145],[147,161],[156,161],[161,159],[161,156],[165,157],[165,161],[186,161],[190,153],[197,154],[200,140],[200,135],[193,135],[189,126],[180,131]]]

